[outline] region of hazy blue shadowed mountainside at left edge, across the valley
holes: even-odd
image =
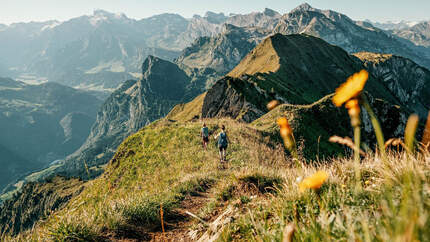
[[[57,83],[0,78],[0,189],[75,151],[90,133],[101,100]]]

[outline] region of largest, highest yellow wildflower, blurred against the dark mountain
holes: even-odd
[[[368,78],[369,73],[366,70],[361,70],[360,72],[350,76],[345,83],[336,89],[333,103],[340,107],[346,101],[358,96],[358,94],[363,90]]]

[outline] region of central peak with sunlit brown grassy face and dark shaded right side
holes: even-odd
[[[364,66],[339,47],[308,35],[276,34],[252,50],[205,97],[203,117],[230,116],[250,122],[273,99],[310,104],[334,92],[349,75]],[[373,96],[392,104],[399,100],[371,77]]]

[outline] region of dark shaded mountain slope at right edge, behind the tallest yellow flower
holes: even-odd
[[[430,109],[430,71],[400,56],[362,52],[354,54],[399,100],[421,118]]]

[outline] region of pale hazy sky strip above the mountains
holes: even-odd
[[[0,0],[0,23],[67,20],[95,9],[141,19],[160,13],[184,17],[206,11],[249,13],[265,7],[289,12],[304,0]],[[354,20],[430,20],[430,0],[308,0],[313,7],[342,12]]]

